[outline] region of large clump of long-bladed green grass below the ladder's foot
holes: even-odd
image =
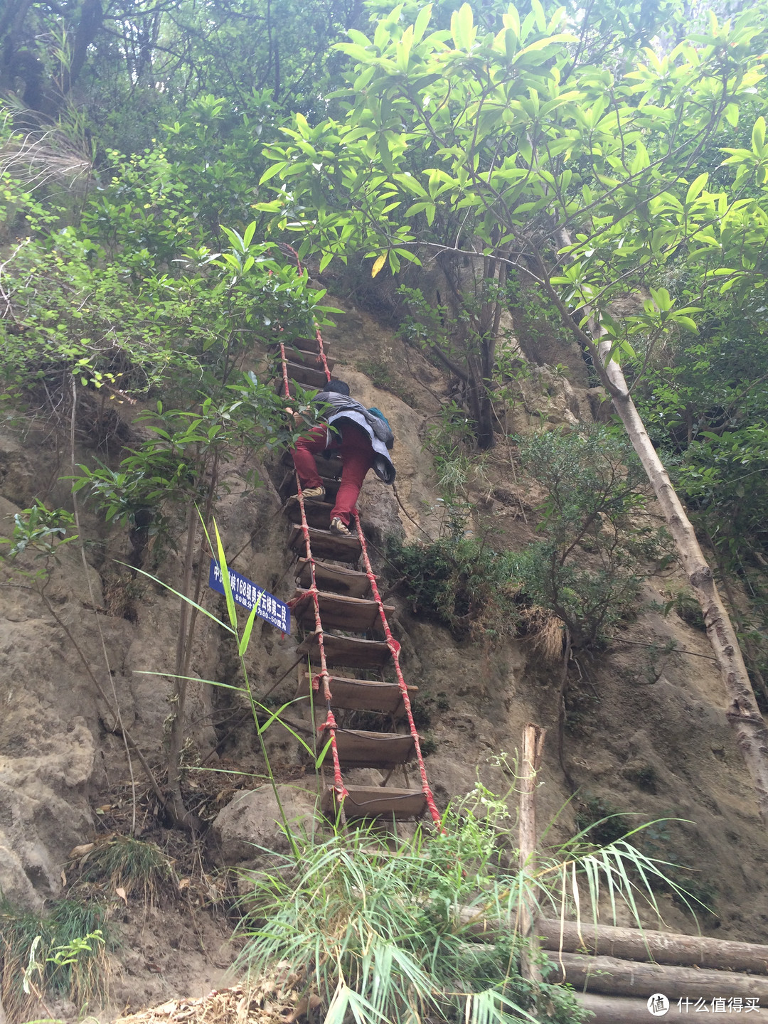
[[[474,813],[478,800],[484,819]],[[325,1024],[578,1024],[585,1012],[567,987],[547,982],[546,957],[543,984],[522,976],[521,907],[596,916],[604,894],[638,919],[641,897],[655,905],[651,882],[663,865],[620,841],[591,850],[571,843],[535,871],[518,870],[505,815],[501,801],[478,791],[447,813],[443,835],[394,848],[373,828],[297,838],[298,862],[274,855],[242,898],[238,967],[258,976],[287,962],[305,994],[324,1004]],[[481,921],[501,928],[478,935]]]

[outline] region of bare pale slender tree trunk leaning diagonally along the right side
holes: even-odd
[[[735,730],[736,740],[752,776],[760,817],[768,825],[768,729],[758,709],[736,634],[693,526],[632,400],[622,368],[610,358],[610,343],[599,341],[598,349],[613,406],[648,474],[685,573],[701,606],[707,635],[730,701],[726,718]]]

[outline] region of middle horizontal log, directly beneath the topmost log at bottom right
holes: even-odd
[[[768,978],[760,975],[637,964],[616,956],[584,956],[581,953],[552,954],[550,958],[555,970],[548,981],[566,981],[574,988],[586,987],[590,992],[644,996],[646,999],[655,992],[664,992],[670,1000],[740,995],[757,997],[764,1007],[768,1006]]]

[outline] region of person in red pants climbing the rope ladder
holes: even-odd
[[[349,396],[349,385],[330,380],[314,398],[326,424],[313,427],[293,450],[293,462],[299,474],[304,498],[323,501],[326,488],[317,472],[314,456],[338,453],[341,456],[341,483],[331,511],[331,532],[349,537],[349,523],[369,469],[385,483],[394,483],[394,466],[389,450],[394,435],[389,422],[378,409],[366,409]],[[288,414],[301,417],[292,409]]]

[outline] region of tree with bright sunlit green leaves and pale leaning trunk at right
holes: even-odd
[[[728,147],[729,180],[710,190],[698,169],[752,106],[762,27],[751,11],[734,24],[712,15],[667,53],[648,47],[620,61],[609,46],[612,59],[597,66],[562,9],[548,16],[534,2],[521,17],[510,7],[495,33],[469,4],[447,30],[430,31],[430,17],[427,6],[404,24],[395,8],[373,38],[350,33],[348,116],[316,127],[297,116],[287,144],[271,151],[262,180],[283,184],[262,208],[276,227],[303,233],[304,251],[322,251],[322,265],[362,249],[372,272],[387,261],[396,272],[426,252],[482,261],[497,287],[511,267],[536,281],[590,353],[653,484],[768,821],[768,730],[712,571],[615,361],[635,341],[649,353],[670,332],[696,330],[700,305],[681,304],[664,284],[671,264],[683,263],[701,293],[743,290],[762,273],[764,120],[749,146]],[[421,242],[424,221],[450,216],[461,224],[453,237]],[[493,358],[486,324],[479,335]]]

